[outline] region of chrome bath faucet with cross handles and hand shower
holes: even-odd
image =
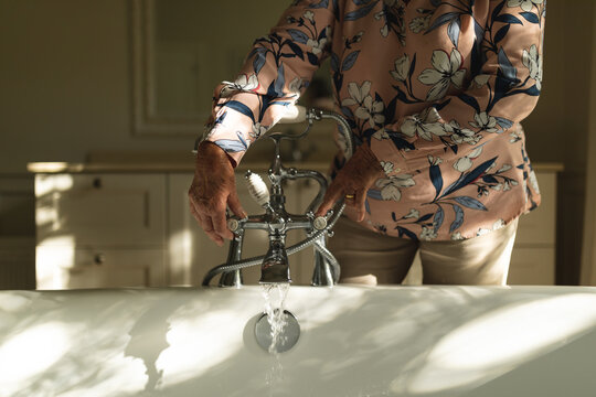
[[[243,283],[241,269],[256,265],[260,265],[260,283],[291,282],[288,256],[308,246],[315,247],[312,285],[332,286],[339,279],[340,267],[337,259],[327,249],[326,237],[332,235],[331,228],[343,212],[344,204],[341,202],[337,206],[338,210],[330,211],[326,216],[315,216],[315,210],[321,204],[328,187],[327,179],[313,170],[286,168],[281,162],[280,143],[283,140],[297,140],[306,137],[313,121],[333,119],[338,124],[340,138],[343,138],[344,154],[348,159],[353,151],[352,132],[347,120],[336,112],[307,110],[302,107],[295,107],[292,111],[294,116],[286,120],[283,119],[280,122],[307,121],[302,133],[273,132],[267,135],[275,143],[274,160],[267,172],[272,185],[270,192],[258,174],[248,171],[245,175],[251,195],[265,210],[265,213],[245,218],[228,217],[227,227],[234,233],[234,239],[230,245],[227,261],[211,269],[203,279],[203,286],[209,286],[211,279],[221,273],[220,287],[241,287]],[[315,180],[319,184],[319,192],[308,205],[305,214],[289,214],[285,207],[286,196],[284,195],[283,182],[304,178]],[[248,229],[263,229],[268,233],[269,247],[266,255],[242,259],[244,234]],[[292,229],[305,229],[307,238],[286,248],[287,232]]]

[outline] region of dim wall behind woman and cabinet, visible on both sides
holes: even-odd
[[[558,282],[578,279],[595,1],[551,0],[543,95],[524,122],[534,161],[560,178]],[[0,173],[92,150],[188,150],[188,138],[130,133],[128,3],[0,0]]]

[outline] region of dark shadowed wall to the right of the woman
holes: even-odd
[[[596,67],[592,58],[595,8],[593,0],[549,1],[543,94],[524,122],[530,158],[565,165],[558,178],[557,205],[557,282],[562,285],[579,280],[589,79]]]

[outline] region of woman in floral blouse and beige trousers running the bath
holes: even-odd
[[[518,217],[540,204],[520,121],[541,89],[544,15],[543,0],[294,1],[215,90],[194,216],[232,238],[234,167],[330,57],[356,139],[317,212],[348,204],[329,244],[342,281],[400,283],[419,249],[425,283],[504,285]]]

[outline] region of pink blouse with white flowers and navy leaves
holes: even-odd
[[[544,17],[545,0],[296,0],[215,89],[206,139],[240,162],[330,57],[336,111],[385,172],[362,224],[482,235],[540,204],[520,121],[541,89]],[[339,150],[333,172],[344,163]]]

